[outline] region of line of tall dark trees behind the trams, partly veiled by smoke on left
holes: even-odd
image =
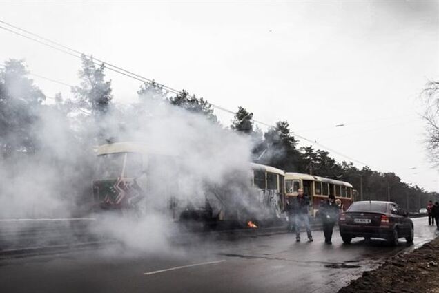
[[[141,102],[129,109],[121,108],[113,102],[111,81],[106,79],[104,70],[104,64],[99,66],[92,57],[83,55],[79,70],[81,82],[78,86],[72,86],[72,99],[64,100],[61,94],[47,97],[30,78],[23,60],[10,59],[4,62],[0,69],[0,152],[3,160],[17,160],[23,156],[28,158],[32,154],[46,152],[52,162],[60,161],[61,158],[49,154],[50,148],[35,131],[35,126],[41,122],[39,113],[50,113],[57,115],[60,123],[70,124],[64,138],[72,145],[81,146],[79,149],[85,157],[90,158],[90,164],[75,166],[79,163],[70,163],[83,176],[89,176],[90,171],[87,170],[92,169],[93,159],[92,152],[87,150],[96,144],[120,139],[120,133],[110,133],[106,120],[108,113],[120,113],[119,117],[123,120],[124,115],[147,111],[146,101],[166,102],[191,113],[204,115],[219,127],[246,135],[253,142],[253,162],[285,171],[350,182],[359,191],[355,200],[360,200],[362,190],[364,200],[390,199],[409,211],[418,211],[429,200],[439,200],[438,193],[427,192],[417,185],[402,182],[393,172],[382,173],[367,166],[359,169],[352,162],[337,162],[328,151],[315,149],[311,145],[299,147],[287,121],[279,121],[275,126],[262,131],[255,125],[253,113],[241,106],[231,124],[223,126],[213,113],[211,104],[203,97],[195,97],[185,90],[171,94],[156,82],[145,82],[137,91]],[[48,99],[54,101],[47,103]],[[90,127],[93,131],[90,131]],[[439,131],[436,130],[436,133]]]

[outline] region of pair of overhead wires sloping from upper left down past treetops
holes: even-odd
[[[10,26],[11,28],[14,28],[15,30],[19,30],[19,31],[21,31],[21,32],[25,32],[26,34],[28,34],[28,35],[32,35],[33,37],[29,37],[28,35],[23,35],[23,34],[20,33],[20,32],[16,32],[16,31],[11,30],[11,29],[9,29],[9,28],[5,28],[5,27],[3,27],[3,26],[0,26],[0,28],[3,29],[3,30],[6,30],[6,31],[8,31],[8,32],[12,32],[13,34],[15,34],[15,35],[19,35],[19,36],[21,36],[21,37],[25,37],[26,39],[30,39],[30,40],[32,40],[32,41],[36,41],[37,43],[42,44],[43,46],[47,46],[47,47],[49,47],[49,48],[52,48],[52,49],[58,50],[58,51],[60,51],[61,53],[66,53],[66,54],[68,54],[68,55],[71,55],[71,56],[73,56],[73,57],[77,57],[77,58],[79,58],[79,59],[81,59],[81,55],[84,54],[84,53],[79,52],[78,50],[75,50],[75,49],[69,48],[68,46],[64,46],[64,45],[62,45],[62,44],[59,44],[58,42],[56,42],[56,41],[52,41],[52,40],[50,40],[50,39],[48,39],[48,38],[46,38],[46,37],[41,37],[40,35],[37,35],[37,34],[35,34],[35,33],[33,33],[33,32],[28,31],[28,30],[23,30],[22,28],[19,28],[19,27],[17,27],[17,26],[14,26],[14,25],[12,25],[12,24],[6,22],[6,21],[2,21],[1,19],[0,19],[0,23],[6,24],[7,26]],[[39,39],[35,39],[34,37],[37,37],[37,38],[39,38],[39,39],[43,39],[44,41],[47,41],[47,42],[49,42],[50,44],[47,44],[46,42],[41,41],[41,40],[39,40]],[[51,44],[56,45],[56,46],[53,46],[53,45],[51,45]],[[57,46],[59,46],[59,47],[61,47],[61,48],[58,48]],[[136,73],[133,73],[133,72],[131,72],[131,71],[129,71],[129,70],[125,70],[124,68],[121,68],[121,67],[119,67],[119,66],[115,66],[115,65],[110,64],[110,63],[108,63],[108,62],[104,62],[103,60],[101,60],[101,59],[97,59],[96,57],[92,57],[91,55],[86,55],[86,54],[84,54],[84,55],[87,56],[87,57],[89,57],[89,58],[92,58],[92,59],[94,59],[94,60],[96,60],[96,61],[98,61],[98,62],[101,62],[101,64],[106,65],[106,68],[107,68],[108,70],[111,70],[111,71],[113,71],[113,72],[115,72],[115,73],[119,73],[119,74],[121,74],[121,75],[125,75],[126,77],[130,77],[130,78],[136,79],[136,80],[138,80],[139,82],[150,82],[150,83],[153,82],[153,79],[148,79],[148,78],[146,78],[146,77],[144,77],[144,76],[142,76],[142,75],[137,75]],[[99,65],[99,66],[101,65],[101,64],[99,64],[99,63],[97,63],[97,62],[95,62],[95,61],[92,61],[92,62],[93,62],[94,64]],[[170,93],[175,93],[175,94],[179,94],[179,93],[180,93],[180,91],[177,91],[175,88],[171,88],[171,87],[169,87],[169,86],[165,86],[164,84],[158,84],[158,83],[157,83],[157,85],[160,86],[160,87],[162,87],[162,88],[164,88],[166,91],[168,91],[168,92],[170,92]],[[195,97],[195,95],[192,95],[192,97]],[[225,111],[225,112],[228,112],[228,113],[235,114],[234,111],[228,110],[228,109],[226,109],[226,108],[224,108],[224,107],[222,107],[222,106],[217,106],[217,105],[212,104],[212,103],[210,103],[210,102],[208,102],[208,104],[210,104],[213,108],[217,108],[218,110],[221,110],[221,111]],[[262,124],[262,125],[264,125],[264,126],[273,127],[273,125],[271,125],[271,124],[267,124],[267,123],[264,123],[264,122],[261,122],[261,121],[255,120],[255,119],[252,119],[252,120],[253,120],[253,122],[257,122],[257,123]],[[332,153],[338,154],[338,155],[340,155],[340,156],[342,156],[342,157],[344,157],[344,158],[347,158],[347,159],[349,159],[349,160],[351,160],[351,161],[353,161],[353,162],[358,162],[358,163],[363,164],[363,165],[365,165],[365,166],[368,165],[368,164],[366,164],[366,163],[364,163],[364,162],[361,162],[361,161],[359,161],[359,160],[355,160],[354,158],[351,158],[351,157],[349,157],[349,156],[347,156],[347,155],[344,155],[344,154],[342,154],[342,153],[340,153],[340,152],[338,152],[338,151],[335,151],[335,150],[333,150],[333,149],[331,149],[331,148],[329,148],[329,147],[326,147],[326,146],[324,146],[323,144],[318,143],[316,140],[309,140],[308,138],[305,138],[304,136],[299,135],[298,133],[295,133],[294,131],[292,131],[292,133],[293,133],[293,135],[295,135],[297,138],[301,138],[302,140],[305,140],[306,142],[310,142],[311,144],[318,145],[318,146],[322,147],[323,149],[326,149],[327,151],[331,151]]]

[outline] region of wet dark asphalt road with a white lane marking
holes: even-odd
[[[0,292],[337,292],[388,256],[436,236],[427,218],[413,223],[415,245],[410,246],[404,238],[398,247],[360,238],[343,245],[338,231],[333,245],[325,245],[322,231],[313,231],[313,243],[275,234],[195,241],[147,254],[114,246],[6,259],[0,261]]]

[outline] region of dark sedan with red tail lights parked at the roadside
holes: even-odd
[[[394,202],[361,201],[340,214],[340,236],[344,243],[352,238],[384,238],[397,245],[398,238],[413,242],[413,221]]]

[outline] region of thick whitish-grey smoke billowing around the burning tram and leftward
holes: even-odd
[[[130,249],[157,251],[166,249],[180,230],[175,223],[179,214],[170,215],[165,189],[176,199],[178,213],[205,208],[208,198],[213,215],[223,211],[223,217],[241,223],[269,214],[251,187],[251,140],[205,115],[148,97],[117,106],[99,121],[68,115],[59,105],[34,112],[35,153],[17,152],[0,167],[1,218],[96,217],[92,234],[122,241]],[[93,153],[98,134],[170,158],[150,162],[157,176],[145,180],[155,189],[148,189],[135,213],[92,214],[91,182],[100,176]]]

